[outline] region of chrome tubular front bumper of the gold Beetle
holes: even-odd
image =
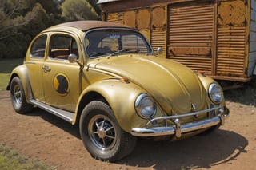
[[[210,112],[217,113],[214,117],[207,118],[202,121],[192,122],[189,124],[181,125],[180,118],[181,117],[189,117],[196,116],[203,113]],[[196,130],[200,130],[203,128],[209,128],[214,125],[224,125],[226,118],[229,116],[229,109],[226,107],[214,107],[211,109],[201,110],[195,113],[186,113],[182,115],[174,115],[168,117],[156,117],[147,122],[146,126],[143,128],[132,128],[131,134],[133,136],[143,136],[143,137],[152,137],[152,136],[166,136],[166,135],[175,135],[176,137],[181,137],[184,132],[193,132]],[[148,127],[151,123],[158,120],[174,120],[173,126],[163,126],[163,127]]]

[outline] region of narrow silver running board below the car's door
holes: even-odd
[[[65,121],[68,121],[70,123],[72,123],[72,121],[73,121],[74,113],[68,112],[66,110],[54,108],[50,105],[46,105],[46,104],[44,104],[40,101],[36,101],[34,99],[31,99],[30,103],[38,106],[38,108],[44,109],[47,112],[54,114],[57,117],[62,118]]]

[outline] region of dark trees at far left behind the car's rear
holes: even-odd
[[[46,27],[63,22],[55,0],[1,0],[0,58],[24,57],[27,46]]]

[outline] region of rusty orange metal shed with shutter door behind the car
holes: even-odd
[[[99,0],[102,20],[146,35],[159,57],[218,80],[256,73],[256,0]]]

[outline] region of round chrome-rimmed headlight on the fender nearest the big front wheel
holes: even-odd
[[[156,105],[154,99],[146,93],[140,94],[135,101],[135,109],[138,115],[144,119],[154,117]]]

